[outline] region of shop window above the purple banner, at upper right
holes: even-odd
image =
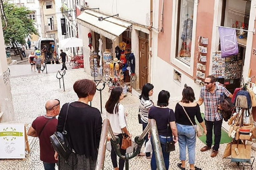
[[[248,30],[251,1],[223,0],[221,26]],[[246,47],[247,33],[237,31],[237,37],[243,35],[243,39],[237,38],[238,45]]]

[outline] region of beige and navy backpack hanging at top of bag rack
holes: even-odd
[[[250,93],[246,90],[240,90],[237,92],[234,104],[236,107],[249,109],[252,107]]]

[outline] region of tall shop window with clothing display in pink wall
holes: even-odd
[[[178,0],[176,58],[190,65],[194,0]]]

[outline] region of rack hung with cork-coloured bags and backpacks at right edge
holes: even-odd
[[[224,167],[235,162],[240,169],[249,166],[252,169],[255,157],[251,156],[252,139],[256,138],[256,127],[252,115],[252,106],[256,106],[255,94],[252,92],[248,84],[244,84],[234,93],[234,105],[237,112],[229,119],[228,124],[231,125],[228,135],[233,140],[227,144],[223,154]],[[224,160],[230,159],[229,163]],[[224,168],[225,169],[225,168]]]

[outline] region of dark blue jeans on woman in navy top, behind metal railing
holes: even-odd
[[[164,164],[165,164],[165,169],[169,169],[169,158],[170,158],[170,152],[165,151],[165,145],[166,145],[166,136],[159,135],[159,140],[161,143],[161,148],[162,148],[162,153],[164,157]],[[152,158],[151,158],[151,170],[156,170],[156,157],[155,157],[155,151],[154,151],[154,145],[153,145],[153,139],[152,135],[150,138],[151,145],[152,145]],[[167,142],[173,141],[172,136],[167,137]]]

